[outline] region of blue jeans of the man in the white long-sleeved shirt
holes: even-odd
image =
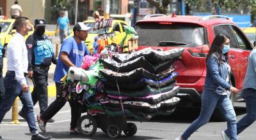
[[[28,78],[26,78],[26,80],[28,83]],[[22,92],[22,86],[20,85],[20,82],[15,80],[14,71],[6,72],[6,76],[4,77],[4,87],[6,94],[4,95],[3,103],[0,106],[0,123],[2,122],[6,112],[8,112],[12,108],[12,104],[15,101],[16,97],[19,96],[20,101],[22,102],[25,109],[30,132],[32,135],[38,134],[38,130],[36,129],[31,93],[30,91]]]

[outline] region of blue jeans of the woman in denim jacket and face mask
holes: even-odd
[[[232,103],[227,95],[216,94],[211,90],[204,90],[202,93],[202,107],[200,115],[196,120],[188,127],[188,129],[182,134],[182,139],[188,139],[193,132],[209,122],[211,115],[217,106],[221,113],[227,120],[228,132],[231,139],[237,139],[236,134],[236,113],[232,106]]]

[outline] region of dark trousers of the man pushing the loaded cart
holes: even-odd
[[[47,109],[41,114],[41,118],[44,120],[49,120],[52,118],[52,116],[56,115],[58,111],[66,104],[67,98],[62,97],[63,95],[63,87],[60,83],[55,82],[56,84],[56,99],[48,106]],[[76,101],[70,101],[70,108],[71,108],[71,123],[70,128],[76,127],[77,120],[80,118],[81,113],[79,114],[77,111],[77,102]]]

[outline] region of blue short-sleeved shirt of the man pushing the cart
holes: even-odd
[[[68,53],[68,59],[77,67],[81,67],[83,62],[83,57],[85,55],[90,55],[90,52],[84,43],[77,43],[74,37],[67,38],[63,41],[60,49],[61,52]],[[65,64],[60,60],[60,55],[58,57],[57,66],[55,68],[53,81],[61,83],[61,78],[67,74],[69,67],[65,66]]]

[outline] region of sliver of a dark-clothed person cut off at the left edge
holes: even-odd
[[[1,33],[1,27],[0,27],[0,33]],[[0,41],[0,105],[3,101],[4,97],[4,78],[3,78],[3,57],[4,57],[4,48]]]

